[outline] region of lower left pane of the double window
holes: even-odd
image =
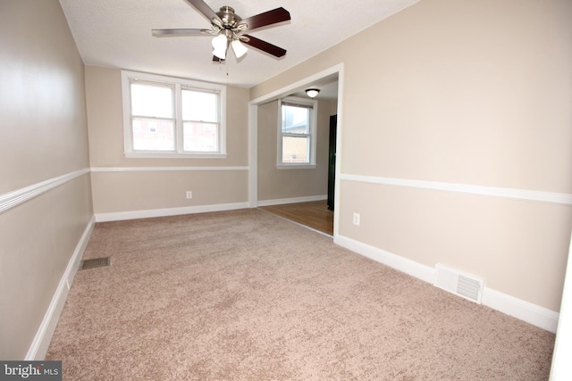
[[[174,151],[172,120],[133,120],[133,149],[138,151]]]

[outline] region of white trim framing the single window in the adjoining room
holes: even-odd
[[[282,162],[282,101],[287,104],[302,104],[312,107],[310,112],[310,162]],[[289,96],[278,100],[278,137],[276,145],[276,168],[278,170],[313,170],[315,165],[315,147],[317,130],[318,101],[315,99]]]

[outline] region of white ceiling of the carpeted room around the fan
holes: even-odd
[[[184,0],[60,0],[87,65],[253,87],[340,43],[419,0],[205,0],[215,12],[229,5],[242,18],[283,7],[290,21],[248,32],[287,50],[276,59],[248,49],[212,62],[211,39],[152,37],[151,29],[210,29]]]

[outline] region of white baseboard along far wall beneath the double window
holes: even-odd
[[[205,213],[208,211],[234,211],[246,208],[248,208],[248,203],[216,203],[212,205],[151,209],[147,211],[115,211],[111,213],[96,213],[96,222],[121,221],[125,219],[148,219],[154,217],[178,216],[181,214]]]

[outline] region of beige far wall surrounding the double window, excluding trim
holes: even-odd
[[[121,70],[87,66],[86,97],[96,213],[248,202],[248,89],[227,87],[226,159],[126,158]]]

